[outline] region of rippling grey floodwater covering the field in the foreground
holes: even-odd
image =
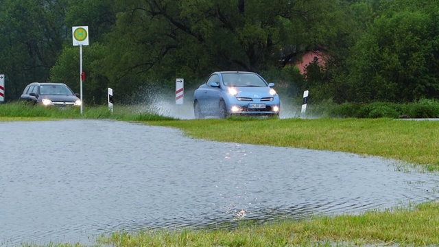
[[[381,158],[203,141],[126,122],[0,122],[0,150],[0,246],[438,199],[438,176]]]

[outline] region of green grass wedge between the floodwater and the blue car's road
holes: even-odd
[[[396,119],[207,119],[148,121],[189,137],[392,158],[439,170],[439,121]]]

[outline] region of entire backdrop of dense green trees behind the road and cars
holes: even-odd
[[[194,88],[217,70],[256,71],[283,97],[313,102],[410,103],[439,99],[436,0],[0,0],[0,73],[7,100],[34,81],[79,91],[71,27],[88,25],[86,104],[106,89],[129,102]],[[323,49],[326,63],[294,69]],[[140,92],[139,92],[140,91]],[[143,100],[143,99],[142,99]]]

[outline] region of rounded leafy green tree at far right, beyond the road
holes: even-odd
[[[436,1],[384,3],[386,8],[376,7],[379,15],[353,48],[348,81],[355,97],[351,100],[438,99],[439,7]]]

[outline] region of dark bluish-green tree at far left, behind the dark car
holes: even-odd
[[[1,60],[8,99],[29,82],[46,81],[67,34],[67,0],[3,0],[0,9]]]

